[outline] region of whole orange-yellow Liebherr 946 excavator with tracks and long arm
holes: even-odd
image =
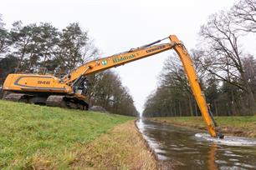
[[[171,42],[157,44],[168,38]],[[192,59],[186,47],[184,47],[183,43],[175,35],[142,47],[132,48],[127,52],[86,62],[74,68],[74,70],[62,78],[54,77],[50,74],[9,74],[3,84],[3,99],[16,102],[41,103],[47,106],[88,109],[89,105],[84,95],[88,87],[86,76],[170,49],[174,49],[182,61],[208,132],[214,138],[223,138],[222,134],[216,133],[215,127],[217,125],[212,117],[212,112],[207,107],[207,102],[198,82]]]

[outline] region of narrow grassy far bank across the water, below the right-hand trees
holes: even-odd
[[[221,133],[256,138],[256,116],[214,117],[214,119],[218,123],[217,130]],[[206,130],[202,117],[153,117],[151,120]]]

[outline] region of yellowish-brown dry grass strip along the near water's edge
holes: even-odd
[[[74,169],[159,169],[134,121],[115,126],[74,153]]]

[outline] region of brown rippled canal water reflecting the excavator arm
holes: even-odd
[[[157,157],[174,169],[256,169],[255,145],[214,143],[197,137],[204,132],[142,119],[136,123]]]

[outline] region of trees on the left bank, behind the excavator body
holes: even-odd
[[[62,77],[99,54],[99,48],[79,23],[70,23],[59,30],[50,23],[24,25],[18,21],[8,29],[0,15],[0,86],[12,72],[47,71]],[[137,115],[131,94],[115,72],[99,72],[88,79],[90,106],[105,107],[117,114]]]

